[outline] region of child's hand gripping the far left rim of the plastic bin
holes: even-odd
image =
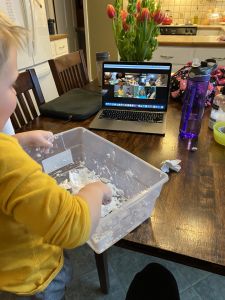
[[[22,146],[33,146],[51,148],[53,146],[54,135],[50,131],[33,130],[15,134]]]

